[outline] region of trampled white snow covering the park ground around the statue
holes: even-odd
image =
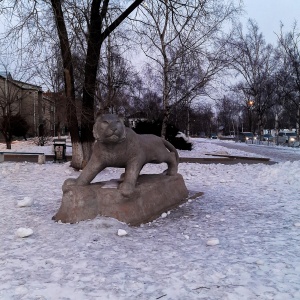
[[[254,155],[229,143],[195,139],[194,150],[180,155]],[[52,152],[30,142],[12,150]],[[0,299],[300,299],[300,152],[274,150],[282,151],[299,160],[181,163],[187,188],[204,195],[140,227],[100,216],[55,223],[62,183],[79,173],[69,163],[0,163]],[[122,171],[108,168],[96,180]],[[33,203],[20,207],[22,200]],[[19,237],[19,228],[33,234]]]

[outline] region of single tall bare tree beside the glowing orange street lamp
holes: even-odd
[[[231,39],[230,49],[232,68],[237,71],[241,81],[236,88],[244,94],[244,105],[248,112],[257,115],[259,132],[264,127],[264,116],[274,105],[276,85],[274,76],[276,64],[274,51],[270,44],[266,44],[253,20],[248,22],[248,32],[243,33],[240,25]],[[252,125],[250,125],[252,130]]]

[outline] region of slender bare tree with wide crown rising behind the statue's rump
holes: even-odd
[[[232,3],[219,0],[184,1],[181,6],[150,0],[140,7],[135,31],[162,83],[163,137],[171,108],[190,103],[224,67],[217,39],[222,24],[237,12]]]

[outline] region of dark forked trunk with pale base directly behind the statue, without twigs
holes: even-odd
[[[126,17],[138,7],[143,0],[134,1],[110,26],[103,30],[103,20],[107,15],[109,0],[93,0],[91,3],[91,18],[89,24],[89,37],[87,43],[87,55],[85,61],[85,80],[83,87],[81,136],[76,114],[74,75],[70,43],[63,17],[60,0],[51,0],[60,40],[61,53],[64,66],[65,90],[67,97],[67,118],[70,129],[73,153],[72,166],[81,169],[88,162],[92,145],[94,124],[94,95],[96,78],[100,58],[100,49],[103,41],[114,31]],[[101,8],[100,8],[100,5]],[[79,163],[81,161],[81,163]]]

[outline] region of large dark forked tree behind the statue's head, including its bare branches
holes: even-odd
[[[10,31],[14,38],[23,36],[24,30],[27,29],[28,36],[35,43],[38,38],[42,43],[47,38],[55,40],[53,27],[49,28],[49,24],[53,24],[54,19],[64,69],[67,119],[73,146],[73,167],[84,167],[91,153],[94,96],[101,46],[111,32],[142,2],[143,0],[135,0],[123,10],[120,8],[119,15],[109,24],[106,23],[106,16],[114,6],[110,0],[87,0],[79,3],[74,0],[63,2],[60,0],[30,2],[7,0],[0,4],[2,12],[10,12],[16,16],[15,18],[18,17],[17,25],[14,25]],[[49,13],[49,9],[52,14],[41,15],[43,12]],[[52,20],[49,15],[53,16]],[[48,21],[48,24],[45,23],[45,20]],[[75,102],[73,46],[84,49],[85,52],[80,128]],[[33,50],[33,48],[31,49]]]

